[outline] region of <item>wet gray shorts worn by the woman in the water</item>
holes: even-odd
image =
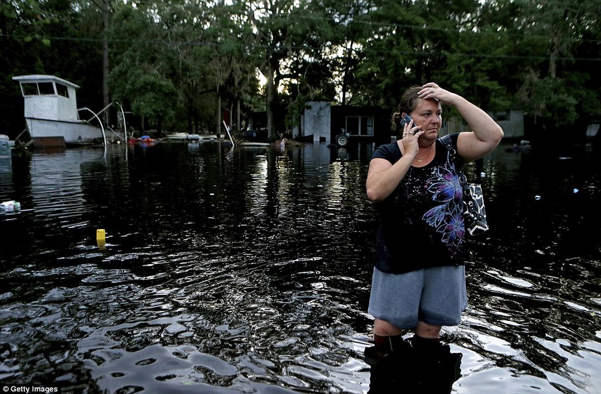
[[[468,307],[465,265],[432,267],[404,274],[374,268],[368,313],[401,329],[418,321],[457,326]]]

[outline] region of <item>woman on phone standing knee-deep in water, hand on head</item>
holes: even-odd
[[[455,163],[438,139],[441,104],[454,106],[472,130],[451,135]],[[412,120],[401,122],[404,115]],[[407,89],[392,122],[402,138],[377,148],[367,174],[367,196],[379,213],[368,307],[375,346],[366,350],[368,362],[422,350],[434,355],[442,348],[442,326],[460,323],[468,301],[457,172],[503,137],[486,112],[433,82]],[[410,344],[403,339],[407,330],[413,330]]]

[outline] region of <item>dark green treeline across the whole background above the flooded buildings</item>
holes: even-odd
[[[79,107],[118,101],[165,132],[267,111],[276,139],[307,101],[392,110],[434,81],[525,111],[540,136],[584,136],[601,118],[599,14],[599,0],[8,0],[0,133],[24,127],[11,77],[54,74],[82,86]]]

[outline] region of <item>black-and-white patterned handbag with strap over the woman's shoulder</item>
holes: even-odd
[[[453,147],[451,136],[446,135],[440,140],[449,151],[451,162],[453,162],[453,165],[457,169],[457,150]],[[468,178],[461,170],[457,171],[457,177],[459,177],[459,182],[463,190],[463,223],[465,224],[465,231],[472,236],[482,234],[489,229],[486,220],[486,210],[484,209],[482,186],[477,183],[468,183]]]

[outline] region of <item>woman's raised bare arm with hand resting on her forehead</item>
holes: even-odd
[[[442,103],[453,105],[468,123],[472,132],[463,132],[457,138],[457,153],[471,162],[492,152],[503,138],[503,130],[486,112],[458,94],[442,89],[436,83],[426,83],[422,98],[436,98]]]

